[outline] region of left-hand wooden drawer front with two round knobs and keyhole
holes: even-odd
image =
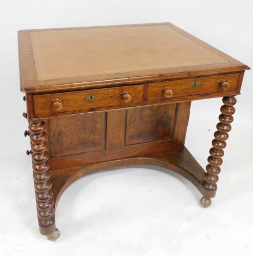
[[[34,95],[35,115],[55,115],[89,109],[129,106],[143,101],[143,84],[80,92]]]

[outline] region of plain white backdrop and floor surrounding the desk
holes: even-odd
[[[175,174],[144,167],[93,174],[62,196],[56,212],[61,237],[52,243],[37,228],[17,48],[20,29],[172,22],[253,68],[252,13],[251,0],[2,0],[1,255],[252,255],[251,70],[237,97],[211,208],[201,209],[199,192]],[[186,146],[203,167],[221,104],[192,104]]]

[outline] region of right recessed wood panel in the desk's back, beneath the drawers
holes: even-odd
[[[131,108],[126,111],[125,145],[173,137],[176,104]]]

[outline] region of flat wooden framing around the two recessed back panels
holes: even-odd
[[[55,170],[59,168],[80,166],[82,164],[91,164],[91,163],[98,163],[98,162],[111,161],[111,160],[117,161],[117,159],[122,159],[124,157],[137,156],[140,154],[157,153],[157,152],[166,151],[169,149],[183,147],[185,142],[186,129],[188,124],[189,109],[191,106],[191,102],[182,102],[177,104],[163,104],[164,106],[163,108],[166,109],[166,108],[172,107],[173,109],[174,108],[173,105],[176,106],[176,113],[174,116],[175,120],[174,120],[173,137],[171,137],[167,132],[167,135],[160,136],[160,138],[166,138],[166,139],[143,142],[143,143],[132,144],[132,145],[124,145],[125,121],[123,120],[123,118],[125,119],[124,112],[126,112],[126,110],[120,109],[119,111],[109,111],[106,114],[107,116],[106,150],[89,151],[82,154],[55,157],[53,159],[50,159],[50,169]],[[143,124],[142,126],[140,125],[138,129],[142,129],[142,127],[143,127]],[[157,134],[157,131],[155,131],[155,129],[154,129],[154,133]],[[147,139],[147,141],[148,140],[149,139]]]

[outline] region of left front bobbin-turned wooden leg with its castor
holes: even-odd
[[[40,233],[47,235],[49,240],[56,240],[60,232],[55,228],[54,201],[50,181],[49,155],[46,124],[34,121],[29,124],[31,151],[34,171],[34,188],[36,195],[37,217]]]

